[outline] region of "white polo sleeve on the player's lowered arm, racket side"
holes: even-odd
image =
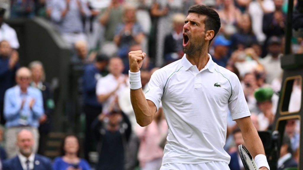
[[[238,77],[233,75],[230,83],[232,86],[232,92],[231,97],[228,100],[228,108],[231,113],[232,120],[251,116]]]

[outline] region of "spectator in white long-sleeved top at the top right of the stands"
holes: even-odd
[[[263,44],[266,35],[262,31],[264,14],[273,12],[275,4],[273,0],[257,0],[251,1],[248,6],[248,13],[251,16],[252,30],[255,33],[258,42]]]

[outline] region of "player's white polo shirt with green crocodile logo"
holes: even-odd
[[[148,83],[145,97],[157,109],[162,101],[168,124],[162,165],[229,163],[223,149],[228,109],[233,120],[251,115],[238,77],[208,56],[201,71],[184,55],[155,71]]]

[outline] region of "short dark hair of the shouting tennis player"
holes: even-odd
[[[211,41],[215,38],[215,36],[219,32],[220,27],[221,27],[221,21],[220,21],[219,14],[211,7],[208,7],[205,5],[193,5],[193,6],[189,7],[188,14],[189,13],[197,13],[197,14],[201,14],[201,15],[206,15],[205,30],[206,31],[214,30],[214,32],[215,32],[214,37],[209,41],[209,44],[210,44]]]

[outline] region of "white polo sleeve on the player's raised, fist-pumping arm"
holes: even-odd
[[[152,74],[150,81],[148,82],[148,90],[145,92],[145,98],[155,103],[157,110],[159,109],[161,98],[164,89],[164,72],[156,70]]]

